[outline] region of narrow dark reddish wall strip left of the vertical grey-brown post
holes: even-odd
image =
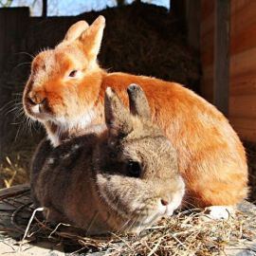
[[[215,32],[215,1],[201,0],[200,8],[200,58],[202,65],[201,94],[213,102],[213,59]]]

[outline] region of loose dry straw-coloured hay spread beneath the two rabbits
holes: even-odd
[[[250,227],[247,227],[248,223]],[[230,244],[243,247],[256,235],[255,219],[252,220],[245,213],[238,211],[229,220],[210,220],[205,210],[200,209],[181,211],[171,218],[162,219],[152,229],[138,236],[112,233],[108,236],[85,237],[60,230],[64,225],[50,228],[38,218],[35,218],[33,225],[32,236],[42,236],[44,231],[46,239],[69,246],[70,252],[74,252],[72,247],[76,247],[75,251],[101,251],[104,255],[115,256],[220,255]]]

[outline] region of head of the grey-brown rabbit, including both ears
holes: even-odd
[[[181,203],[184,183],[174,147],[152,122],[143,91],[136,84],[127,91],[133,114],[110,87],[106,89],[108,139],[100,145],[94,166],[97,190],[112,214],[117,214],[115,220],[124,220],[122,228],[139,231],[173,214]]]

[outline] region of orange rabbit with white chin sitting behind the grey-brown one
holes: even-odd
[[[209,102],[175,82],[107,73],[97,63],[105,20],[70,27],[64,41],[39,53],[24,90],[27,115],[44,123],[54,146],[104,121],[103,99],[111,86],[128,106],[126,88],[139,84],[154,121],[174,144],[186,203],[233,206],[247,197],[247,159],[229,121]],[[157,67],[155,67],[157,68]]]

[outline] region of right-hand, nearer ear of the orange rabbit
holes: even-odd
[[[84,46],[83,49],[85,54],[92,61],[96,60],[100,51],[104,27],[105,18],[99,16],[90,27],[82,32],[82,35],[79,38]]]

